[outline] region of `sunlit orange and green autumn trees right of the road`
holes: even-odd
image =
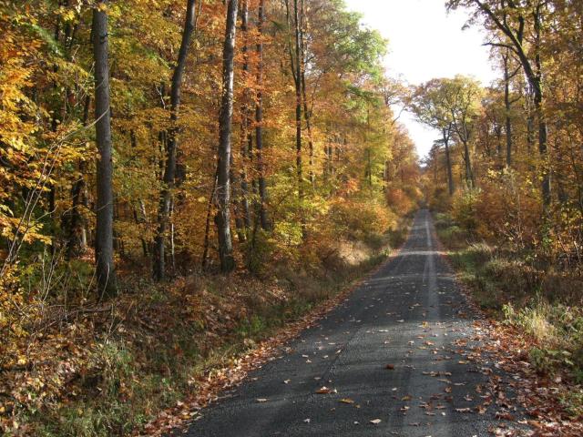
[[[430,204],[453,212],[480,238],[529,253],[541,265],[568,259],[579,266],[580,2],[452,0],[448,5],[469,7],[470,24],[485,25],[500,78],[486,87],[435,79],[416,90],[417,117],[454,132],[449,150],[444,153],[440,145],[427,159]],[[444,107],[456,108],[447,112],[449,119],[435,111]],[[451,192],[452,177],[440,178],[442,159],[450,162],[453,179],[470,182],[454,196],[443,196]]]

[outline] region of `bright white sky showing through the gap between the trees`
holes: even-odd
[[[478,26],[462,30],[468,13],[447,13],[445,0],[344,0],[348,9],[363,14],[365,25],[389,40],[385,65],[389,76],[417,85],[434,77],[475,76],[483,85],[496,79],[488,62],[489,50]],[[400,121],[409,130],[420,157],[438,133],[404,113]]]

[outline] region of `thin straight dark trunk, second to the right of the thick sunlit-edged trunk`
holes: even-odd
[[[257,42],[257,100],[255,104],[255,148],[257,150],[257,172],[259,186],[259,219],[261,228],[271,229],[269,215],[267,213],[267,182],[265,180],[265,164],[263,163],[263,24],[265,22],[265,0],[260,0],[257,30],[259,40]]]

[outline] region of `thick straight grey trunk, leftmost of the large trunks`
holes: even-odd
[[[113,253],[113,158],[109,107],[109,54],[107,0],[93,9],[93,56],[95,59],[95,117],[97,140],[97,289],[100,296],[117,293]]]

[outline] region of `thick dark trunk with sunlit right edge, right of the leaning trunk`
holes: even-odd
[[[230,137],[233,114],[233,79],[235,36],[237,33],[238,0],[229,0],[227,25],[223,46],[222,96],[219,117],[219,155],[217,162],[217,214],[215,224],[219,236],[220,270],[229,273],[235,269],[233,246],[230,237]]]

